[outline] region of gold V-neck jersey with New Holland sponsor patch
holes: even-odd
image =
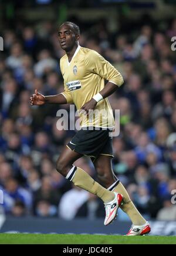
[[[79,110],[87,101],[104,88],[104,80],[113,82],[120,87],[123,77],[116,68],[92,49],[78,46],[72,60],[67,55],[60,59],[60,71],[64,79],[67,103],[74,103]],[[114,127],[113,111],[107,98],[99,101],[94,115],[89,118],[82,115],[81,127]]]

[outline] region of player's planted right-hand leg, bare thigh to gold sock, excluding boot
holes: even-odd
[[[93,164],[96,168],[99,180],[104,187],[123,195],[123,204],[120,208],[128,214],[133,225],[144,225],[146,223],[145,219],[141,216],[140,212],[138,212],[137,208],[131,201],[123,184],[121,184],[114,175],[111,157],[108,155],[99,155],[99,157],[93,161]]]

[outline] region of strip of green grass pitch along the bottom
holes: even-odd
[[[0,234],[0,244],[176,244],[176,236]]]

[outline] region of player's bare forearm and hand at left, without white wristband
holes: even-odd
[[[66,98],[62,94],[44,96],[35,89],[35,94],[29,99],[31,105],[43,105],[46,103],[50,104],[67,104]]]

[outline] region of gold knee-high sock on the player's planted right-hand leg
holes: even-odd
[[[120,181],[114,182],[114,184],[112,184],[108,189],[110,191],[114,191],[123,195],[123,204],[120,206],[120,208],[121,210],[126,212],[126,214],[130,217],[131,221],[133,222],[133,225],[145,224],[146,220],[143,218],[140,212],[138,212],[136,206],[131,201],[128,192],[126,191],[126,189]]]

